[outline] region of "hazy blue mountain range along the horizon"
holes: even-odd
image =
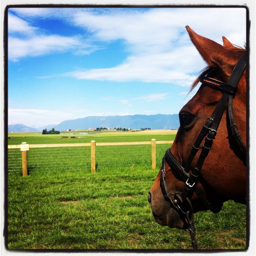
[[[150,128],[152,130],[178,130],[180,126],[178,114],[166,115],[131,115],[131,116],[88,116],[74,120],[66,120],[57,125],[47,125],[41,129],[30,128],[21,124],[8,126],[8,132],[41,132],[43,129],[58,131],[83,130],[90,128]]]

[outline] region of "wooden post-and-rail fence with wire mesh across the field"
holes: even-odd
[[[156,145],[172,144],[173,141],[144,142],[95,142],[74,144],[26,144],[8,145],[8,172],[90,168],[96,172],[98,167],[134,164],[156,168],[158,158],[162,157],[162,147],[156,154]],[[150,147],[151,145],[151,147]],[[66,148],[66,149],[65,149]],[[151,149],[151,150],[150,150]],[[30,151],[28,153],[28,151]],[[159,156],[159,157],[157,157]],[[114,159],[114,160],[113,160]]]

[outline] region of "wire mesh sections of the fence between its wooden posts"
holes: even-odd
[[[140,144],[142,143],[142,144]],[[150,168],[152,164],[151,142],[139,144],[96,144],[96,171],[104,168],[136,168],[137,166]],[[161,143],[161,142],[158,142]],[[167,143],[167,142],[166,142]],[[162,156],[169,145],[156,146],[156,166],[161,165]],[[8,173],[22,174],[22,154],[19,145],[8,148]],[[32,172],[75,172],[91,170],[90,144],[81,145],[29,145],[27,151],[28,174]]]

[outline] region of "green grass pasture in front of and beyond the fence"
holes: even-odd
[[[15,134],[16,139],[8,139],[8,143],[173,140],[173,133],[115,132],[88,134],[81,139]],[[158,158],[167,148],[160,146]],[[122,162],[122,155],[119,157]],[[156,170],[137,164],[134,168],[104,166],[94,174],[90,170],[33,171],[26,177],[8,174],[8,248],[192,249],[188,230],[160,226],[152,216],[147,196],[159,166],[157,159]],[[200,249],[246,248],[244,205],[229,201],[218,214],[196,213],[195,226]]]

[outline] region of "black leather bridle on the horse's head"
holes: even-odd
[[[200,134],[198,135],[194,145],[192,146],[192,150],[190,152],[190,156],[188,161],[184,165],[184,167],[178,162],[178,160],[174,157],[174,155],[170,152],[170,148],[168,148],[165,152],[165,155],[162,159],[162,170],[160,177],[160,187],[162,190],[162,194],[164,195],[165,200],[170,203],[170,206],[176,210],[182,218],[184,218],[189,225],[189,231],[191,236],[191,242],[194,249],[197,249],[196,244],[196,233],[194,228],[194,214],[192,204],[190,202],[193,193],[195,192],[206,206],[206,209],[211,210],[214,213],[217,213],[221,210],[219,207],[213,207],[210,202],[206,198],[204,198],[202,192],[196,186],[199,174],[204,164],[204,160],[208,156],[210,149],[213,144],[213,140],[217,134],[217,129],[220,124],[220,120],[226,108],[227,102],[227,129],[231,130],[232,137],[236,141],[238,148],[242,152],[243,156],[246,156],[246,146],[244,145],[240,134],[238,132],[238,128],[234,123],[233,116],[233,107],[232,102],[233,98],[236,95],[238,83],[241,79],[241,76],[246,67],[246,53],[242,55],[242,57],[238,60],[234,70],[225,84],[218,80],[209,78],[204,76],[200,82],[206,86],[210,86],[213,89],[220,90],[223,92],[222,97],[220,98],[216,108],[212,112],[212,115],[208,117],[206,123],[204,124]],[[191,163],[199,150],[200,144],[202,143],[205,137],[204,145],[202,146],[200,156],[197,160],[195,167],[192,169],[192,172],[189,174],[189,169]],[[186,184],[182,192],[169,193],[166,184],[166,170],[165,163],[172,169],[172,172],[176,172],[179,174],[181,180]]]

